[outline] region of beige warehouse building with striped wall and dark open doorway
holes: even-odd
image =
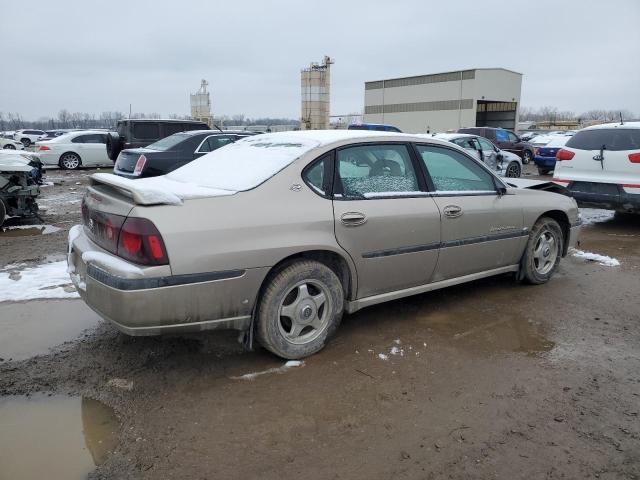
[[[445,132],[488,126],[514,130],[522,74],[476,68],[364,84],[364,122],[403,132]]]

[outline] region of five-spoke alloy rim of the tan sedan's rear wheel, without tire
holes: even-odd
[[[332,311],[329,289],[318,281],[303,280],[280,302],[278,329],[289,343],[303,345],[326,330]]]

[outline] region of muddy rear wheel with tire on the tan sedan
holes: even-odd
[[[344,309],[344,291],[325,264],[292,263],[268,280],[259,300],[256,337],[270,352],[299,359],[322,350]]]

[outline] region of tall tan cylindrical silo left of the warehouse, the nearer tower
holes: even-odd
[[[329,92],[333,60],[325,55],[322,64],[312,63],[301,71],[302,130],[329,128]]]

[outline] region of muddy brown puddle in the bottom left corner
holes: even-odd
[[[118,419],[85,397],[0,400],[0,479],[84,479],[117,446]]]

